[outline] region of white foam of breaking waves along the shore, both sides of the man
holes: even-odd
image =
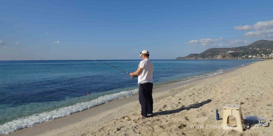
[[[247,64],[251,64],[251,63],[247,63]],[[236,68],[239,68],[239,66],[233,67],[231,69],[236,69]],[[185,77],[180,80],[173,80],[173,81],[167,81],[164,83],[157,83],[157,84],[154,84],[154,88],[168,86],[171,84],[183,83],[183,82],[187,83],[191,80],[204,79],[204,78],[216,75],[216,74],[221,74],[223,72],[226,72],[226,70],[219,69],[219,70],[216,70],[213,72],[207,72],[207,73],[199,74],[199,75],[196,75],[193,77]],[[40,114],[38,114],[38,116],[31,115],[26,118],[21,118],[18,120],[13,120],[13,121],[7,122],[6,124],[3,125],[2,129],[6,132],[8,130],[10,130],[9,132],[12,133],[16,130],[21,130],[22,128],[32,127],[32,126],[42,124],[47,121],[52,121],[56,118],[65,117],[65,116],[71,115],[73,113],[77,113],[77,112],[80,112],[80,111],[83,111],[83,110],[86,110],[89,108],[93,108],[93,107],[101,105],[101,104],[105,104],[105,103],[112,101],[112,100],[132,96],[133,94],[136,94],[136,93],[138,93],[138,88],[131,88],[129,90],[124,90],[121,92],[102,95],[96,99],[92,99],[87,102],[77,103],[77,104],[74,104],[71,106],[61,107],[56,110],[51,110],[51,111],[47,111],[45,113],[40,113]],[[68,110],[66,110],[66,109],[68,109]],[[24,122],[24,123],[22,123],[22,122]],[[12,128],[10,128],[10,127],[12,127]],[[1,130],[1,132],[3,132],[3,130]]]

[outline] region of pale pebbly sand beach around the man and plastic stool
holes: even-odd
[[[154,89],[154,115],[139,117],[138,95],[111,101],[8,135],[105,136],[105,135],[273,135],[272,126],[244,132],[206,128],[221,125],[225,104],[242,104],[243,116],[273,118],[273,60],[256,62],[229,73]],[[175,88],[175,89],[171,89]],[[216,120],[215,110],[220,114]],[[273,121],[269,121],[272,123]],[[204,128],[191,128],[204,125]],[[271,124],[270,124],[271,125]]]

